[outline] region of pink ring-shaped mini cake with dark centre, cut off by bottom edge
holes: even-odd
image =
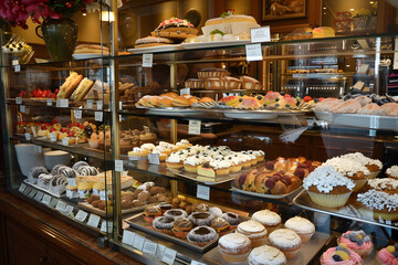
[[[343,247],[344,246],[344,247]],[[345,245],[331,247],[321,256],[321,265],[360,265],[362,258]]]

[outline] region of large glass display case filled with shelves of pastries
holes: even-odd
[[[396,103],[379,96],[394,40],[268,42],[256,61],[250,42],[210,42],[2,67],[9,190],[146,264],[228,264],[219,239],[277,246],[283,226],[301,235],[297,253],[280,247],[287,264],[318,264],[358,230],[370,264],[396,241],[395,180],[371,180],[398,163]],[[83,83],[67,95],[84,77],[86,95]],[[381,208],[367,200],[380,194]],[[315,225],[310,240],[293,216]]]

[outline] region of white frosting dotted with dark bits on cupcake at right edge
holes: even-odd
[[[358,194],[357,201],[367,208],[376,210],[396,211],[398,209],[398,194],[389,194],[377,190],[368,190]]]

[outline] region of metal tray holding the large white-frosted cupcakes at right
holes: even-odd
[[[310,211],[326,213],[329,215],[335,215],[344,219],[350,219],[363,223],[376,224],[379,226],[395,227],[395,229],[398,226],[398,222],[375,220],[373,218],[371,210],[360,206],[360,204],[356,201],[355,194],[350,195],[348,202],[344,206],[324,208],[312,202],[308,193],[305,190],[302,190],[293,199],[293,203]]]

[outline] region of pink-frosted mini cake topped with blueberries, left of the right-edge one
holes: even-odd
[[[356,252],[362,257],[367,257],[373,251],[370,236],[364,231],[347,231],[337,241],[344,243],[349,250]]]

